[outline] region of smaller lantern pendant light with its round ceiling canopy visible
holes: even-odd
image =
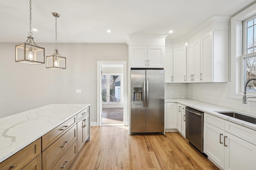
[[[66,69],[66,57],[62,57],[58,53],[57,47],[57,18],[60,17],[60,14],[53,12],[52,15],[55,17],[55,49],[52,55],[46,56],[46,68],[57,70]]]

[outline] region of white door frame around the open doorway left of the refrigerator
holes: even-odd
[[[97,126],[101,126],[102,117],[102,65],[123,65],[124,80],[124,126],[128,126],[128,93],[127,93],[127,66],[126,61],[97,61]]]

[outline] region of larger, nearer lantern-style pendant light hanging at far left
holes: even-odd
[[[15,46],[15,62],[26,63],[26,64],[44,64],[44,48],[39,47],[34,42],[32,37],[33,33],[31,32],[31,0],[30,0],[30,15],[29,15],[29,32],[28,39],[25,43]]]

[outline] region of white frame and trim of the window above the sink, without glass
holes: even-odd
[[[256,4],[246,8],[231,18],[231,98],[242,100],[244,95],[244,58],[255,56],[256,53],[244,54],[246,30],[243,30],[243,21],[250,20],[256,15]],[[247,93],[248,97],[255,97],[256,93]],[[248,99],[256,101],[255,99]]]

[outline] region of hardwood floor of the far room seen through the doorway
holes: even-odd
[[[102,124],[123,124],[124,108],[102,108]]]

